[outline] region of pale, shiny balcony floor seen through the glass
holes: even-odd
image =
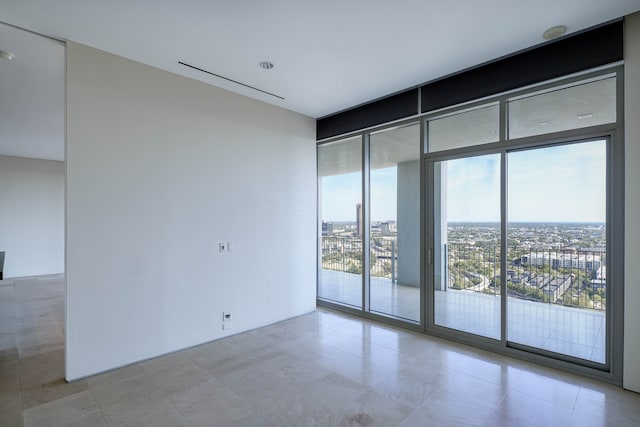
[[[321,270],[320,298],[361,307],[362,276]],[[500,337],[500,296],[449,289],[435,292],[435,322],[495,339]],[[557,304],[508,298],[508,339],[597,363],[605,362],[606,315]],[[372,278],[371,311],[419,321],[420,289]]]

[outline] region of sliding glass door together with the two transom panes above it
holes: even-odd
[[[621,297],[607,274],[621,230],[616,88],[595,75],[425,120],[434,328],[600,370],[619,363]]]

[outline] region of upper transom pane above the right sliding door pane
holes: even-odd
[[[606,78],[509,101],[509,138],[616,121],[616,79]]]

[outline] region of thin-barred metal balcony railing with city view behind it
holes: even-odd
[[[362,239],[357,236],[322,236],[322,268],[362,274]],[[440,289],[500,294],[500,247],[495,244],[449,243],[446,286]],[[397,241],[372,236],[372,277],[396,283]],[[604,311],[606,307],[606,253],[599,250],[509,247],[509,297]]]

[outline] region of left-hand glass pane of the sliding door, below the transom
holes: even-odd
[[[437,325],[500,339],[500,154],[434,163]]]

